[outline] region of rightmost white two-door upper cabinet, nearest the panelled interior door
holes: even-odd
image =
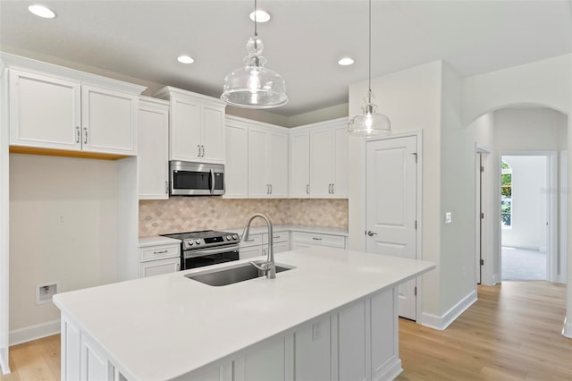
[[[346,118],[290,132],[290,197],[348,197]]]

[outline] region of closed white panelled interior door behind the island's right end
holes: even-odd
[[[367,142],[366,251],[416,259],[416,137]],[[416,319],[416,280],[398,288],[400,316]]]

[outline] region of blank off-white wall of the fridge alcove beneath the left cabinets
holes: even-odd
[[[52,303],[36,304],[36,284],[65,292],[115,281],[115,165],[10,155],[11,336],[60,317]]]

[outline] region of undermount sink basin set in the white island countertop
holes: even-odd
[[[292,266],[276,264],[276,273],[291,270]],[[238,266],[224,267],[216,270],[207,270],[205,272],[188,274],[185,277],[203,284],[212,286],[223,286],[228,284],[236,284],[239,282],[248,281],[249,279],[265,276],[264,273],[250,265],[249,263],[242,263]]]

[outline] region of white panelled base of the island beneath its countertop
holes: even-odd
[[[376,292],[180,379],[391,380],[402,371],[397,303],[395,287]],[[63,380],[130,379],[127,369],[65,316],[62,370]]]

